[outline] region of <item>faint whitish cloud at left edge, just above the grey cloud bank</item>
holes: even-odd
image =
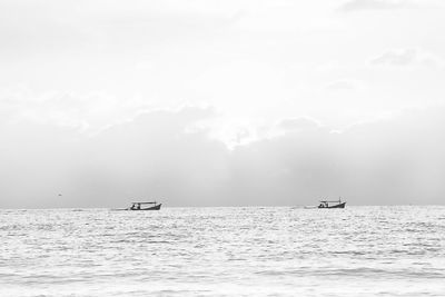
[[[150,108],[137,98],[117,98],[106,92],[48,91],[36,93],[27,88],[0,93],[0,123],[28,121],[96,132],[109,125],[135,117]]]

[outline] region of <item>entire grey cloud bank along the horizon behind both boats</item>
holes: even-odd
[[[405,110],[332,132],[305,120],[234,150],[186,129],[209,109],[154,111],[86,138],[53,126],[0,128],[0,207],[443,204],[445,109]],[[13,132],[12,132],[13,131]],[[62,196],[58,196],[58,194]]]

